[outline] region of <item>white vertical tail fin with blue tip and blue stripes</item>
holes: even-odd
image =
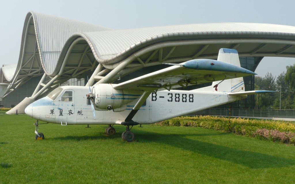
[[[217,60],[223,61],[226,63],[231,63],[236,66],[241,66],[238,52],[235,49],[221,48],[219,50]],[[219,92],[244,92],[245,91],[245,84],[244,84],[243,77],[239,77],[239,78],[236,78],[235,76],[228,76],[228,77],[232,77],[232,79],[227,79],[222,82],[221,81],[213,82],[212,86],[200,88],[196,90],[219,91]]]

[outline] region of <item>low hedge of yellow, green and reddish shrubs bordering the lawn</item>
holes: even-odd
[[[229,124],[230,123],[230,124]],[[156,123],[160,126],[194,126],[271,141],[295,144],[295,123],[286,121],[229,118],[217,116],[182,116]],[[231,126],[231,128],[229,127]]]

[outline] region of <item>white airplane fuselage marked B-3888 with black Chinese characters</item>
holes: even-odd
[[[50,97],[43,97],[30,104],[25,110],[26,114],[36,120],[64,125],[121,124],[139,99],[127,103],[127,109],[121,112],[96,110],[96,118],[94,119],[91,105],[87,103],[86,97],[86,94],[89,93],[89,87],[65,86],[62,88],[63,91],[55,100],[50,99]],[[66,99],[63,94],[71,94],[71,97]],[[213,90],[158,91],[150,94],[132,120],[140,124],[152,124],[242,98],[244,97],[232,97],[225,92]]]

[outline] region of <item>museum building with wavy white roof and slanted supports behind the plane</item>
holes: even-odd
[[[207,23],[112,30],[29,12],[19,60],[0,70],[0,83],[11,84],[0,103],[14,107],[8,113],[22,113],[61,85],[120,83],[167,67],[162,63],[217,59],[220,48],[236,49],[241,67],[254,72],[264,56],[295,57],[294,45],[295,27],[286,25]],[[254,76],[244,77],[244,82],[246,91],[254,90]],[[254,106],[249,95],[234,108]]]

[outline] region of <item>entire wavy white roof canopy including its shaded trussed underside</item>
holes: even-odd
[[[294,45],[295,27],[286,25],[207,23],[112,30],[29,12],[24,22],[19,61],[13,76],[9,74],[6,78],[5,74],[5,78],[17,88],[43,73],[54,77],[62,71],[60,78],[78,78],[94,70],[98,63],[114,69],[129,58],[131,62],[126,67],[133,69],[121,71],[112,78],[116,80],[128,72],[163,61],[216,59],[220,48],[237,49],[240,57],[295,57]]]

